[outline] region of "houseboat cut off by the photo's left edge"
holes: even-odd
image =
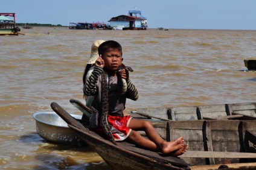
[[[9,17],[13,19],[10,19]],[[1,35],[19,35],[21,29],[16,27],[16,15],[15,13],[0,13],[0,36]]]

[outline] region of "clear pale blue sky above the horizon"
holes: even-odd
[[[8,0],[0,13],[16,13],[18,23],[107,22],[142,11],[149,28],[256,30],[255,0]]]

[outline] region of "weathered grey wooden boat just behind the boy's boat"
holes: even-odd
[[[256,102],[235,104],[199,105],[185,107],[155,107],[137,109],[132,113],[147,116],[147,118],[170,119],[173,121],[193,121],[202,119],[256,119]]]

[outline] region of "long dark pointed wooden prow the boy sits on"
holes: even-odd
[[[118,142],[118,145],[114,145],[84,127],[56,102],[52,102],[51,107],[112,169],[190,169],[187,163],[178,157],[163,156],[161,153],[137,148],[128,142]]]

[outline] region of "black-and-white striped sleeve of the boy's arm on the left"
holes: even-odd
[[[98,77],[103,73],[103,69],[95,66],[94,71],[92,71],[91,76],[88,78],[88,80],[85,83],[85,86],[83,87],[83,92],[87,96],[94,95],[94,93],[97,91],[96,84],[98,81]]]

